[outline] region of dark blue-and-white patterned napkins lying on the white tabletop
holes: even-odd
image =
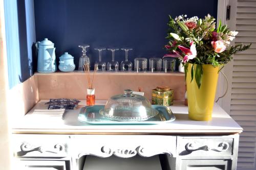
[[[49,102],[46,103],[48,109],[76,109],[78,103],[81,102],[77,99],[50,99]]]

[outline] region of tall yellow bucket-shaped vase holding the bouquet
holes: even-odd
[[[191,81],[191,67],[188,64],[186,84],[188,117],[193,120],[211,120],[212,108],[215,103],[215,93],[218,82],[219,67],[203,64],[203,75],[200,88],[196,83],[195,72],[197,64],[194,64],[194,79]]]

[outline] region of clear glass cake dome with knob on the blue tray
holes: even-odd
[[[99,113],[117,121],[143,121],[158,114],[144,96],[124,90],[124,94],[112,96]]]

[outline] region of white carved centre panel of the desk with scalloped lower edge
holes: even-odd
[[[102,158],[113,155],[120,158],[131,158],[136,155],[151,157],[158,154],[176,156],[176,136],[76,135],[73,142],[79,146],[71,149],[75,158],[84,155]]]

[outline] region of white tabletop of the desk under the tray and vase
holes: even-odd
[[[176,116],[174,122],[159,125],[89,125],[79,122],[77,117],[82,101],[77,109],[66,110],[63,118],[59,116],[36,115],[35,109],[47,109],[39,101],[22,119],[17,119],[12,126],[12,133],[21,134],[236,134],[242,128],[217,104],[212,112],[212,120],[195,121],[188,119],[187,106],[184,101],[175,101],[169,108]],[[106,101],[96,101],[104,105]]]

